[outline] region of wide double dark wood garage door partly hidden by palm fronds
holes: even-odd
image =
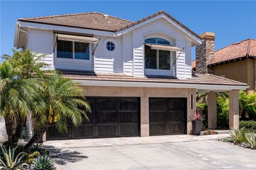
[[[52,125],[47,140],[138,136],[140,130],[139,98],[86,98],[92,113],[89,122],[75,127],[69,121],[68,133],[59,134]]]

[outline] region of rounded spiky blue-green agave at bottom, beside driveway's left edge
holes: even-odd
[[[32,162],[30,169],[32,170],[53,170],[54,162],[53,159],[49,155],[43,155],[35,158]]]

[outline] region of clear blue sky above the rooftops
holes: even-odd
[[[0,54],[10,54],[18,18],[98,11],[136,21],[159,10],[198,34],[214,32],[215,50],[256,38],[256,1],[1,1]]]

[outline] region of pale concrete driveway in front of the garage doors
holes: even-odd
[[[58,169],[256,169],[255,150],[217,141],[223,137],[227,134],[62,140],[44,145],[64,155],[73,153],[67,158],[73,163]]]

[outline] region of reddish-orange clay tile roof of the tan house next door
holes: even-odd
[[[256,58],[256,40],[253,38],[231,44],[215,51],[214,60],[209,64],[209,66],[245,57]],[[195,60],[191,62],[191,66],[192,68],[196,67]]]

